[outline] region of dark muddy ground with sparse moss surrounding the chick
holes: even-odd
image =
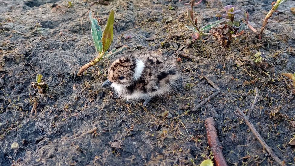
[[[235,115],[247,112],[259,97],[250,120],[286,162],[295,164],[295,147],[288,142],[294,131],[295,99],[291,81],[281,73],[295,72],[294,1],[287,1],[269,20],[258,39],[249,28],[224,48],[214,37],[196,41],[182,57],[191,39],[185,17],[188,0],[75,0],[68,8],[62,0],[0,0],[0,165],[194,165],[212,157],[204,120],[213,117],[229,165],[277,165]],[[199,24],[217,20],[222,7],[233,4],[248,11],[259,29],[272,1],[203,1],[194,7]],[[115,10],[114,41],[110,49],[158,50],[177,60],[182,71],[174,94],[141,103],[125,103],[106,80],[110,59],[103,59],[86,75],[79,67],[96,56],[90,34],[89,11],[105,25]],[[173,19],[167,23],[164,17]],[[125,36],[132,36],[125,39]],[[178,49],[178,50],[177,50]],[[267,67],[253,64],[261,51]],[[119,55],[115,55],[115,58]],[[112,59],[111,58],[111,59]],[[37,73],[49,91],[32,88]],[[202,76],[222,93],[194,111],[194,106],[215,92]],[[182,82],[192,83],[184,88]],[[37,103],[36,112],[29,118]],[[169,111],[171,118],[161,114]],[[247,114],[249,115],[249,114]],[[96,132],[83,134],[93,128]],[[167,130],[168,135],[161,136]],[[13,142],[19,148],[12,149]]]

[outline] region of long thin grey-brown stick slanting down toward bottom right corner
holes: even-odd
[[[236,111],[244,119],[244,121],[248,125],[249,129],[253,132],[253,134],[256,137],[256,139],[258,140],[258,142],[265,148],[265,150],[268,152],[268,154],[271,155],[271,157],[274,159],[274,161],[276,161],[280,165],[283,165],[283,161],[281,161],[280,158],[278,158],[277,155],[275,155],[274,152],[271,150],[271,148],[266,144],[266,142],[263,140],[261,135],[255,129],[254,125],[249,121],[249,118],[242,112],[241,109],[236,108]]]

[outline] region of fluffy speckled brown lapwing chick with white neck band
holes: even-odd
[[[180,77],[175,61],[157,53],[125,55],[111,63],[108,72],[102,87],[111,86],[125,100],[144,99],[144,106],[172,91]]]

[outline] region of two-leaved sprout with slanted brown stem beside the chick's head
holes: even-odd
[[[82,73],[85,70],[99,62],[105,55],[113,41],[114,10],[112,10],[109,15],[109,19],[106,24],[105,30],[103,31],[103,34],[98,21],[95,18],[92,18],[91,12],[89,12],[89,18],[91,21],[91,34],[94,41],[94,46],[96,48],[96,51],[98,52],[98,56],[94,58],[94,60],[91,60],[89,63],[81,67],[79,72],[77,73],[78,76],[82,76]]]

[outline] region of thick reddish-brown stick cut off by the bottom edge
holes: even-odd
[[[222,146],[218,140],[217,132],[215,129],[215,123],[213,118],[207,118],[205,120],[205,127],[207,131],[207,139],[211,151],[214,155],[214,162],[216,166],[226,166],[226,161],[222,155]]]

